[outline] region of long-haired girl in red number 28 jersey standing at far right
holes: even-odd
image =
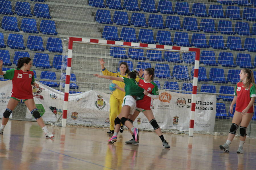
[[[256,93],[253,71],[250,69],[241,69],[239,76],[241,81],[236,84],[234,94],[235,97],[229,108],[229,112],[232,114],[233,105],[236,103],[232,125],[228,133],[226,143],[224,145],[220,145],[220,149],[224,150],[225,152],[229,152],[230,143],[234,139],[236,130],[240,125],[240,145],[237,153],[243,153],[243,144],[246,138],[246,128],[249,125],[254,112],[253,103],[255,101]]]

